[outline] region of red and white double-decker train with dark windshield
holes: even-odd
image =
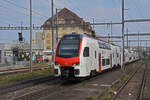
[[[81,78],[122,65],[121,48],[86,34],[66,34],[55,51],[55,76]],[[138,54],[125,50],[125,62],[138,60]]]

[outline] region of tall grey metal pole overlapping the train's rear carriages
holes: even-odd
[[[122,66],[121,69],[123,69],[123,67],[124,67],[124,0],[122,0]]]

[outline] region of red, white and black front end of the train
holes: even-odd
[[[55,52],[55,76],[72,79],[80,76],[82,35],[64,35]]]

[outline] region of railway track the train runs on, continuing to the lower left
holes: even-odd
[[[108,73],[104,73],[103,76],[105,74],[107,75]],[[5,99],[5,100],[43,100],[47,96],[53,96],[60,92],[70,91],[71,89],[78,87],[81,84],[86,84],[87,82],[99,79],[99,77],[101,77],[101,75],[95,76],[91,79],[85,79],[82,82],[74,82],[74,81],[73,82],[63,82],[59,79],[54,78],[53,80],[49,80],[45,83],[38,83],[39,86],[36,84],[37,88],[32,89],[32,91],[25,92],[25,93],[18,93],[19,95],[16,95],[15,97],[10,97],[10,98],[7,98],[7,96],[5,96],[6,98],[2,97],[2,98],[0,98],[0,100],[3,100],[3,99]],[[103,80],[101,80],[101,82],[103,82]],[[32,84],[32,85],[34,85],[34,84]],[[11,92],[11,91],[9,91],[9,92]],[[3,94],[6,94],[6,93],[3,93]]]

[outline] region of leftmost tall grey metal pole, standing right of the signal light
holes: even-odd
[[[32,73],[32,0],[30,0],[30,72]]]

